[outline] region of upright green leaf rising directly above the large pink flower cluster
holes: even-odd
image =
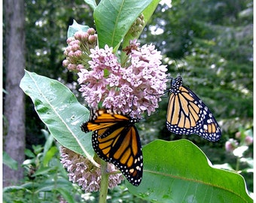
[[[108,44],[117,50],[133,22],[151,2],[152,0],[102,0],[93,14],[99,47]]]

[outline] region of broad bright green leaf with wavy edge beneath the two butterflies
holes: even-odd
[[[153,141],[143,147],[144,174],[130,192],[156,202],[252,202],[239,174],[212,168],[192,142]]]

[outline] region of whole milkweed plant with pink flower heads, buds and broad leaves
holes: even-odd
[[[139,119],[144,115],[156,115],[161,96],[166,91],[167,68],[161,62],[163,56],[154,44],[140,44],[138,41],[159,0],[102,0],[99,5],[94,1],[85,2],[93,9],[96,27],[82,26],[75,21],[69,26],[62,62],[65,68],[78,75],[83,106],[58,82],[26,72],[29,77],[38,77],[49,86],[54,83],[62,89],[55,89],[55,92],[63,97],[63,101],[59,102],[58,98],[54,103],[56,106],[50,105],[47,114],[42,113],[41,104],[46,107],[49,101],[54,102],[53,94],[48,95],[48,103],[36,102],[48,97],[30,92],[31,85],[26,86],[28,76],[20,86],[32,97],[39,117],[62,144],[60,162],[68,171],[69,180],[81,186],[84,192],[99,191],[99,201],[105,202],[108,189],[124,179],[114,165],[94,156],[91,134],[81,132],[81,123],[89,119],[89,111],[84,105],[113,109]],[[36,83],[38,80],[34,79]],[[43,89],[44,86],[39,85],[38,88]],[[41,92],[44,95],[48,91]],[[63,111],[69,107],[72,109]],[[62,127],[51,125],[49,111],[55,115],[52,119],[62,123]],[[69,112],[72,115],[67,116]],[[57,120],[59,117],[61,119]],[[189,198],[203,202],[211,198],[212,202],[217,202],[221,196],[226,202],[234,198],[239,199],[237,202],[252,202],[241,176],[213,168],[203,152],[190,141],[154,141],[143,148],[145,173],[142,184],[137,187],[126,184],[129,191],[140,198],[160,202],[192,202],[193,199]],[[209,177],[203,174],[209,174]],[[218,178],[211,177],[212,174]],[[235,183],[239,186],[233,186]],[[181,195],[184,187],[186,191]],[[200,195],[202,189],[203,197]]]

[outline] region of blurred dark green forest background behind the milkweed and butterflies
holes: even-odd
[[[91,8],[78,0],[32,0],[25,2],[25,11],[26,70],[61,81],[79,98],[81,95],[77,91],[77,75],[62,67],[63,50],[66,47],[67,30],[73,20],[95,28]],[[7,22],[4,21],[5,23]],[[4,27],[4,39],[5,33]],[[166,94],[157,112],[151,117],[145,115],[137,125],[142,144],[148,144],[157,138],[166,141],[190,139],[206,153],[213,164],[226,163],[238,169],[237,157],[225,150],[225,143],[230,138],[239,142],[240,134],[251,133],[252,136],[253,1],[176,0],[169,6],[160,4],[142,32],[139,42],[152,43],[161,51],[163,63],[168,65],[169,77],[182,74],[184,86],[192,89],[208,105],[222,129],[221,141],[216,143],[210,143],[197,135],[180,136],[168,132],[165,125],[168,105]],[[4,42],[4,53],[5,46]],[[5,74],[4,56],[4,88],[7,85]],[[4,100],[5,96],[4,93]],[[83,101],[82,98],[79,100]],[[25,159],[35,162],[44,149],[47,131],[29,97],[26,97],[25,109]],[[8,122],[4,121],[4,136],[7,134]],[[55,162],[48,165],[48,173],[36,178],[29,177],[31,168],[26,168],[25,164],[26,177],[21,183],[33,179],[43,181],[49,176],[49,171],[58,173],[68,182],[65,171],[56,163],[59,152],[58,147],[55,149],[52,156]],[[252,149],[251,144],[243,157],[251,159]],[[38,162],[37,164],[40,165]],[[253,174],[251,171],[243,171],[244,168],[248,168],[248,162],[240,162],[239,171],[245,177],[248,190],[252,192]],[[78,190],[76,188],[72,191]],[[120,193],[128,194],[125,186],[114,191],[119,192],[118,198]]]

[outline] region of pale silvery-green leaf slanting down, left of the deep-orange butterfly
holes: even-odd
[[[81,131],[81,124],[90,113],[62,83],[29,71],[20,82],[20,87],[32,98],[35,111],[45,123],[50,134],[59,144],[86,156],[95,165],[91,133]]]

